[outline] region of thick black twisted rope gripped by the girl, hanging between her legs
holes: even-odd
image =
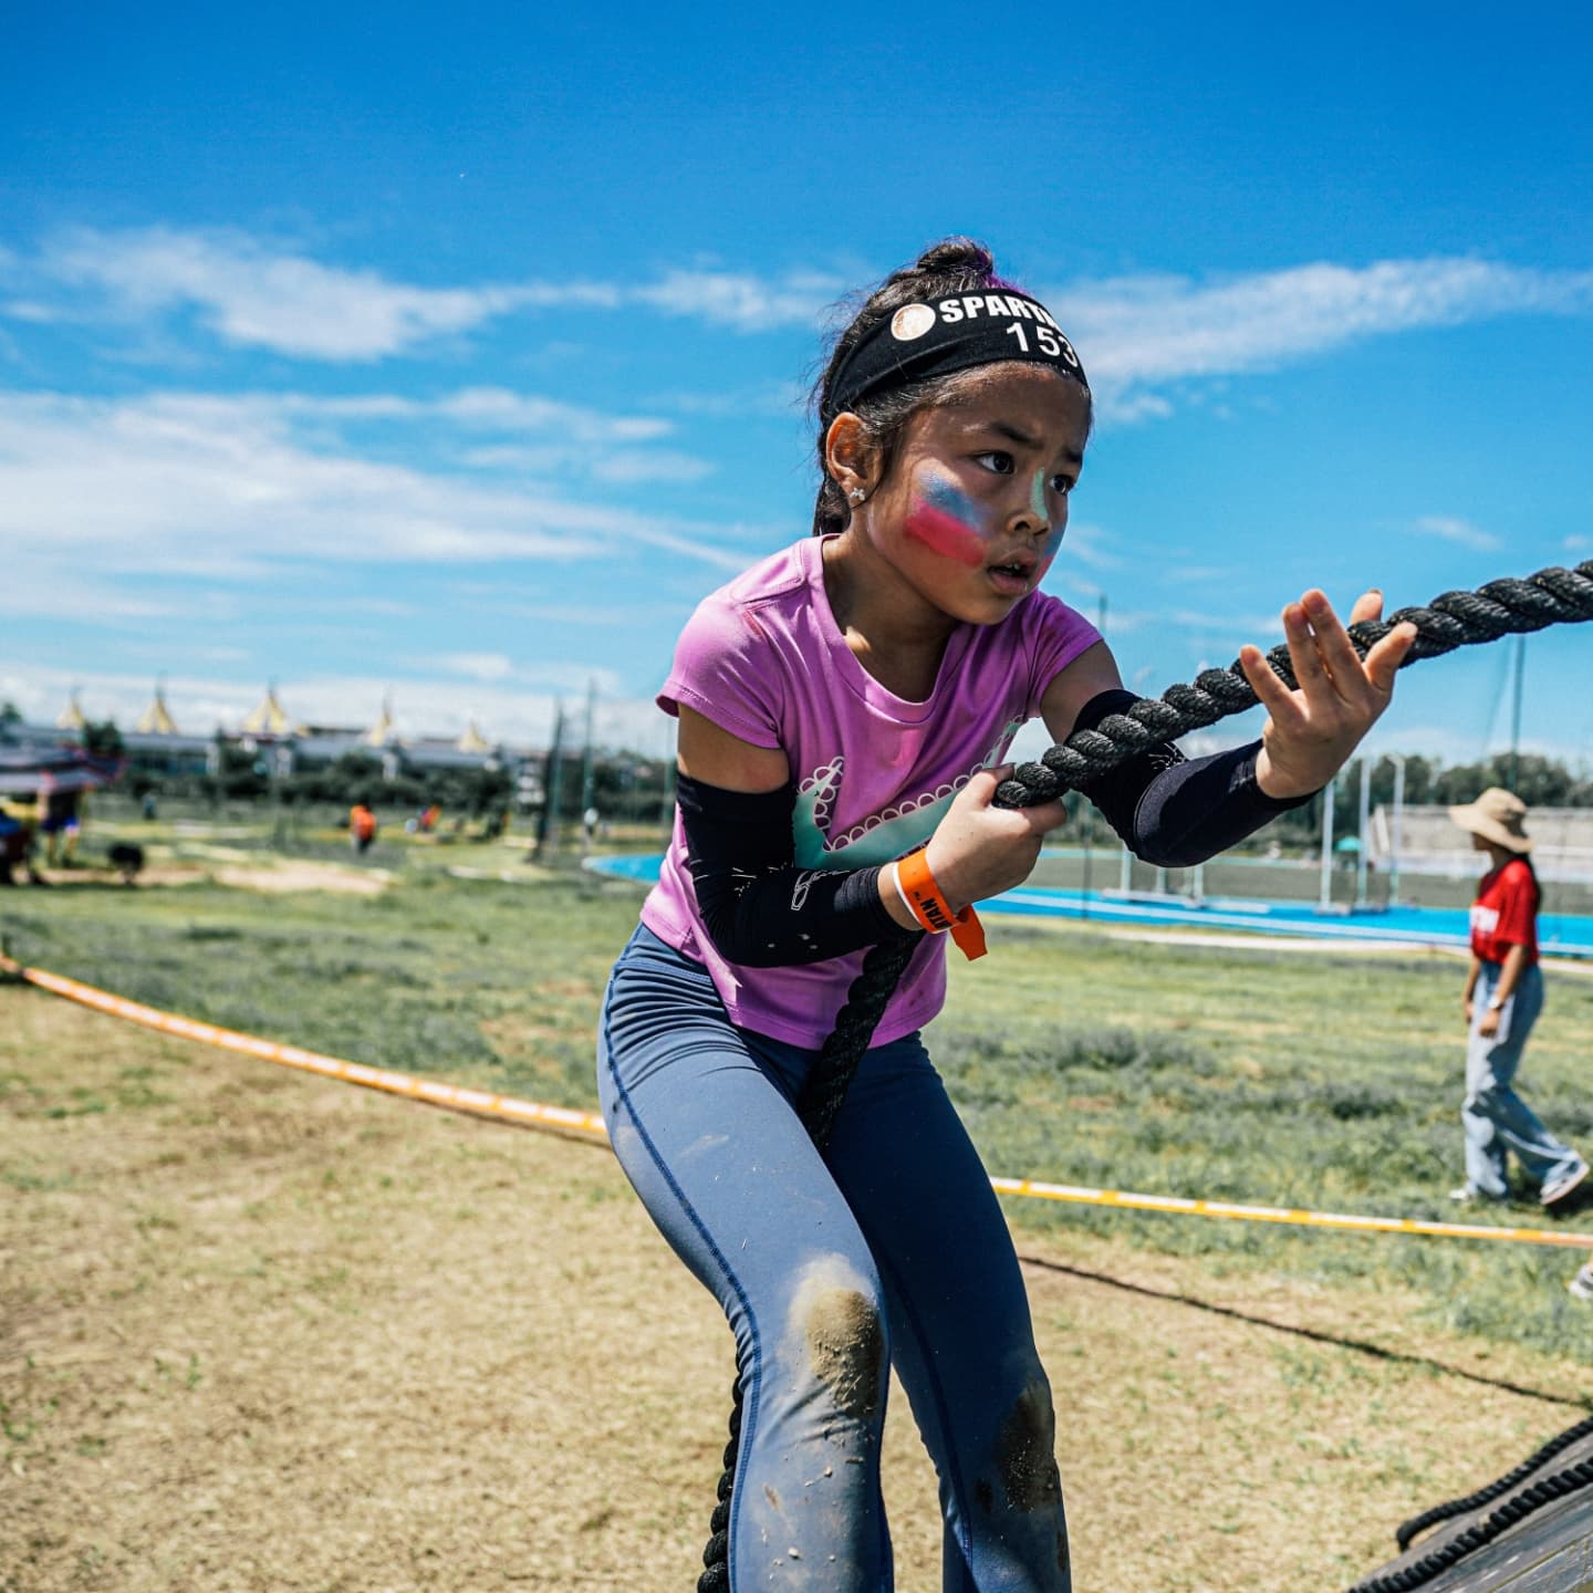
[[[1416,626],[1416,642],[1403,663],[1413,664],[1419,658],[1453,653],[1458,647],[1475,647],[1480,642],[1494,642],[1501,636],[1520,636],[1542,631],[1550,624],[1574,624],[1585,620],[1593,620],[1593,559],[1587,559],[1574,570],[1552,567],[1526,580],[1504,577],[1478,586],[1477,591],[1443,593],[1426,607],[1400,609],[1386,620],[1362,620],[1349,626],[1349,640],[1356,653],[1365,658],[1394,626],[1410,621]],[[1266,661],[1290,687],[1297,683],[1286,645],[1274,647]],[[1002,781],[996,789],[996,801],[1002,808],[1032,808],[1051,801],[1064,790],[1088,785],[1090,781],[1106,774],[1125,758],[1145,752],[1158,741],[1176,741],[1193,730],[1204,730],[1219,718],[1255,707],[1255,691],[1238,663],[1227,669],[1203,669],[1193,685],[1174,685],[1160,698],[1142,698],[1126,714],[1109,714],[1094,730],[1075,731],[1067,741],[1051,747],[1039,763],[1020,763],[1012,779]],[[918,935],[908,935],[871,946],[863,957],[862,970],[846,992],[846,1005],[836,1015],[835,1031],[825,1040],[819,1063],[796,1102],[803,1125],[820,1150],[828,1142],[835,1115],[846,1099],[857,1064],[868,1050],[868,1042],[884,1016],[918,940]],[[725,1448],[725,1474],[718,1483],[714,1536],[703,1550],[707,1569],[698,1579],[698,1593],[730,1593],[726,1560],[730,1493],[741,1435],[741,1395],[742,1380],[738,1370],[734,1408],[730,1418],[731,1435]]]

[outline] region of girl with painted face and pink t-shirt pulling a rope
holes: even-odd
[[[1050,312],[949,239],[868,296],[816,400],[814,537],[701,604],[658,699],[680,720],[679,814],[604,1005],[604,1115],[736,1335],[734,1593],[889,1593],[890,1368],[940,1477],[946,1593],[1064,1593],[1023,1278],[919,1034],[946,937],[916,946],[822,1155],[793,1102],[863,949],[965,922],[1064,820],[1059,801],[992,804],[1024,720],[1061,741],[1134,701],[1094,628],[1039,589],[1090,387]],[[1380,613],[1368,593],[1352,618]],[[1362,664],[1319,591],[1284,629],[1298,690],[1243,655],[1260,742],[1164,746],[1091,785],[1141,857],[1198,862],[1319,790],[1415,637]]]

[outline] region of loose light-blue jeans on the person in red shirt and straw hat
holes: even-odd
[[[1510,1193],[1505,1152],[1513,1150],[1521,1158],[1521,1168],[1534,1184],[1547,1184],[1577,1166],[1577,1153],[1544,1128],[1513,1088],[1526,1037],[1544,1010],[1544,975],[1536,964],[1521,970],[1499,1015],[1501,1035],[1485,1039],[1477,1032],[1499,984],[1499,973],[1501,964],[1485,962],[1477,980],[1472,1032],[1466,1045],[1466,1102],[1461,1107],[1466,1187],[1488,1200],[1504,1200]]]

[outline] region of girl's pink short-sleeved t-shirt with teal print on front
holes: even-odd
[[[980,768],[1004,761],[1040,710],[1055,675],[1099,632],[1047,593],[1031,593],[999,624],[959,624],[924,703],[887,691],[857,661],[824,589],[824,542],[809,537],[704,597],[687,621],[658,696],[755,747],[785,753],[796,782],[792,830],[800,868],[867,868],[921,846]],[[675,832],[642,922],[707,967],[734,1023],[819,1047],[863,953],[806,967],[726,962],[698,914],[685,832]],[[945,935],[926,935],[879,1027],[876,1045],[940,1012]]]

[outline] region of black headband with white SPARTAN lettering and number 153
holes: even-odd
[[[956,293],[903,304],[865,333],[841,360],[819,421],[828,427],[871,393],[1000,360],[1039,360],[1090,390],[1074,346],[1039,299],[1010,288]]]

